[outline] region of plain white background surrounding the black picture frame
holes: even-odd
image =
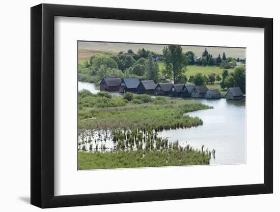
[[[31,0],[3,1],[1,4],[1,174],[0,174],[0,210],[1,211],[38,211],[30,205],[30,7],[42,2]],[[280,48],[280,14],[277,2],[225,0],[207,1],[129,1],[129,0],[63,0],[44,3],[71,4],[101,7],[121,7],[149,10],[166,10],[194,13],[212,13],[225,15],[244,15],[274,18],[274,194],[221,197],[192,200],[130,203],[118,205],[99,205],[71,208],[49,209],[50,211],[279,211],[277,201],[280,198],[278,183],[280,157],[277,150],[280,139],[276,132],[280,125],[280,114],[275,108],[280,106],[280,86],[276,86],[277,54]],[[229,38],[230,39],[230,38]]]

